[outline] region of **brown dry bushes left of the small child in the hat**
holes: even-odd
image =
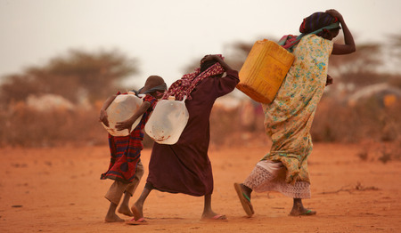
[[[65,145],[98,145],[107,136],[97,121],[97,110],[37,111],[23,102],[0,113],[2,146],[54,147]]]

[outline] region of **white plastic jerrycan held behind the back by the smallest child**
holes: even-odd
[[[131,127],[131,131],[128,131],[127,129],[122,131],[117,130],[116,123],[125,121],[131,117],[135,113],[136,108],[139,108],[142,102],[143,100],[137,97],[133,92],[119,94],[111,102],[109,108],[106,109],[110,127],[107,127],[103,123],[102,125],[113,136],[127,136],[139,124],[142,116],[139,116],[138,119],[136,119],[135,123]]]

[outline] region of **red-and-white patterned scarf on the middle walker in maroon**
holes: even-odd
[[[218,54],[217,56],[224,60],[224,57],[221,54]],[[195,86],[201,82],[201,80],[209,76],[223,74],[224,72],[225,69],[222,68],[218,62],[202,73],[201,68],[196,68],[194,72],[184,75],[181,77],[181,79],[178,79],[176,82],[171,84],[168,88],[168,91],[164,93],[162,99],[166,100],[169,96],[175,96],[176,100],[183,100],[184,96],[186,96],[187,100],[192,100],[191,92],[193,88],[195,88]]]

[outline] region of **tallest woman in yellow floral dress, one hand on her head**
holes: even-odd
[[[340,25],[345,44],[333,44]],[[264,104],[266,133],[273,142],[270,153],[263,157],[243,183],[234,188],[248,216],[254,213],[250,194],[279,191],[293,198],[290,215],[312,215],[302,204],[310,198],[310,181],[307,157],[312,151],[310,127],[323,89],[331,84],[327,75],[331,54],[348,54],[356,51],[353,36],[340,12],[315,12],[303,20],[301,36],[286,36],[279,42],[293,51],[295,60],[285,77],[274,101]]]

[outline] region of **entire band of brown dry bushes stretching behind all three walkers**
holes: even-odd
[[[258,107],[258,106],[257,106]],[[260,106],[259,106],[260,107]],[[107,145],[107,132],[98,122],[100,104],[94,108],[38,111],[26,103],[12,104],[0,112],[0,146],[56,147]],[[246,111],[251,111],[246,113]],[[401,145],[401,103],[383,107],[373,101],[348,107],[334,100],[319,104],[311,134],[313,141],[356,143],[396,142]],[[244,117],[251,121],[244,123]],[[260,108],[218,108],[210,116],[210,144],[255,146],[270,143]],[[153,141],[145,136],[143,145]]]

